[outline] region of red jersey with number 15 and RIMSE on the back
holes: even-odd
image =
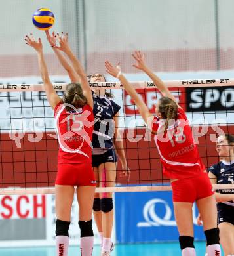
[[[94,114],[86,104],[66,110],[60,102],[54,109],[58,135],[58,163],[92,163]]]

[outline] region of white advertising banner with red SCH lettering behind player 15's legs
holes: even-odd
[[[74,197],[69,244],[77,246],[80,238],[78,211]],[[0,247],[55,245],[55,221],[54,195],[0,196]],[[99,244],[99,234],[94,221],[92,227],[94,244]],[[112,240],[115,242],[115,228]]]

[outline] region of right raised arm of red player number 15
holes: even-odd
[[[66,33],[66,35],[59,35],[57,33],[56,37],[58,37],[58,42],[60,43],[60,46],[55,46],[54,48],[64,51],[64,53],[67,54],[69,60],[71,60],[71,64],[75,72],[77,73],[77,75],[79,75],[83,94],[86,96],[88,104],[91,106],[91,108],[93,108],[92,91],[87,81],[87,76],[85,74],[83,66],[81,66],[81,63],[75,57],[75,55],[71,51],[71,48],[68,45],[68,33]]]

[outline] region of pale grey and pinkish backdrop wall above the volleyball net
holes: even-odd
[[[105,60],[121,62],[125,72],[133,72],[131,53],[135,49],[147,54],[147,63],[157,67],[157,72],[234,68],[234,35],[228,30],[234,22],[231,0],[176,3],[155,0],[146,1],[144,5],[134,0],[70,0],[69,4],[62,0],[50,3],[41,0],[40,6],[21,0],[15,1],[11,15],[7,11],[2,13],[6,26],[2,32],[0,77],[9,77],[10,83],[14,83],[12,77],[38,75],[35,53],[23,40],[31,32],[35,38],[42,39],[49,74],[66,74],[54,58],[44,33],[35,29],[31,22],[33,12],[43,6],[49,7],[55,15],[52,30],[68,32],[69,44],[87,74],[104,73]],[[4,1],[3,8],[11,9],[10,1]],[[9,25],[19,22],[20,33],[18,26]],[[14,40],[12,35],[17,35]]]

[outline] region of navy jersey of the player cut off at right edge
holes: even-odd
[[[219,163],[210,166],[208,171],[217,177],[217,184],[234,184],[234,161],[231,163],[220,161]],[[222,194],[234,194],[234,189],[225,188],[218,190],[218,192]],[[223,203],[234,206],[233,201],[218,203],[218,206],[221,206]]]

